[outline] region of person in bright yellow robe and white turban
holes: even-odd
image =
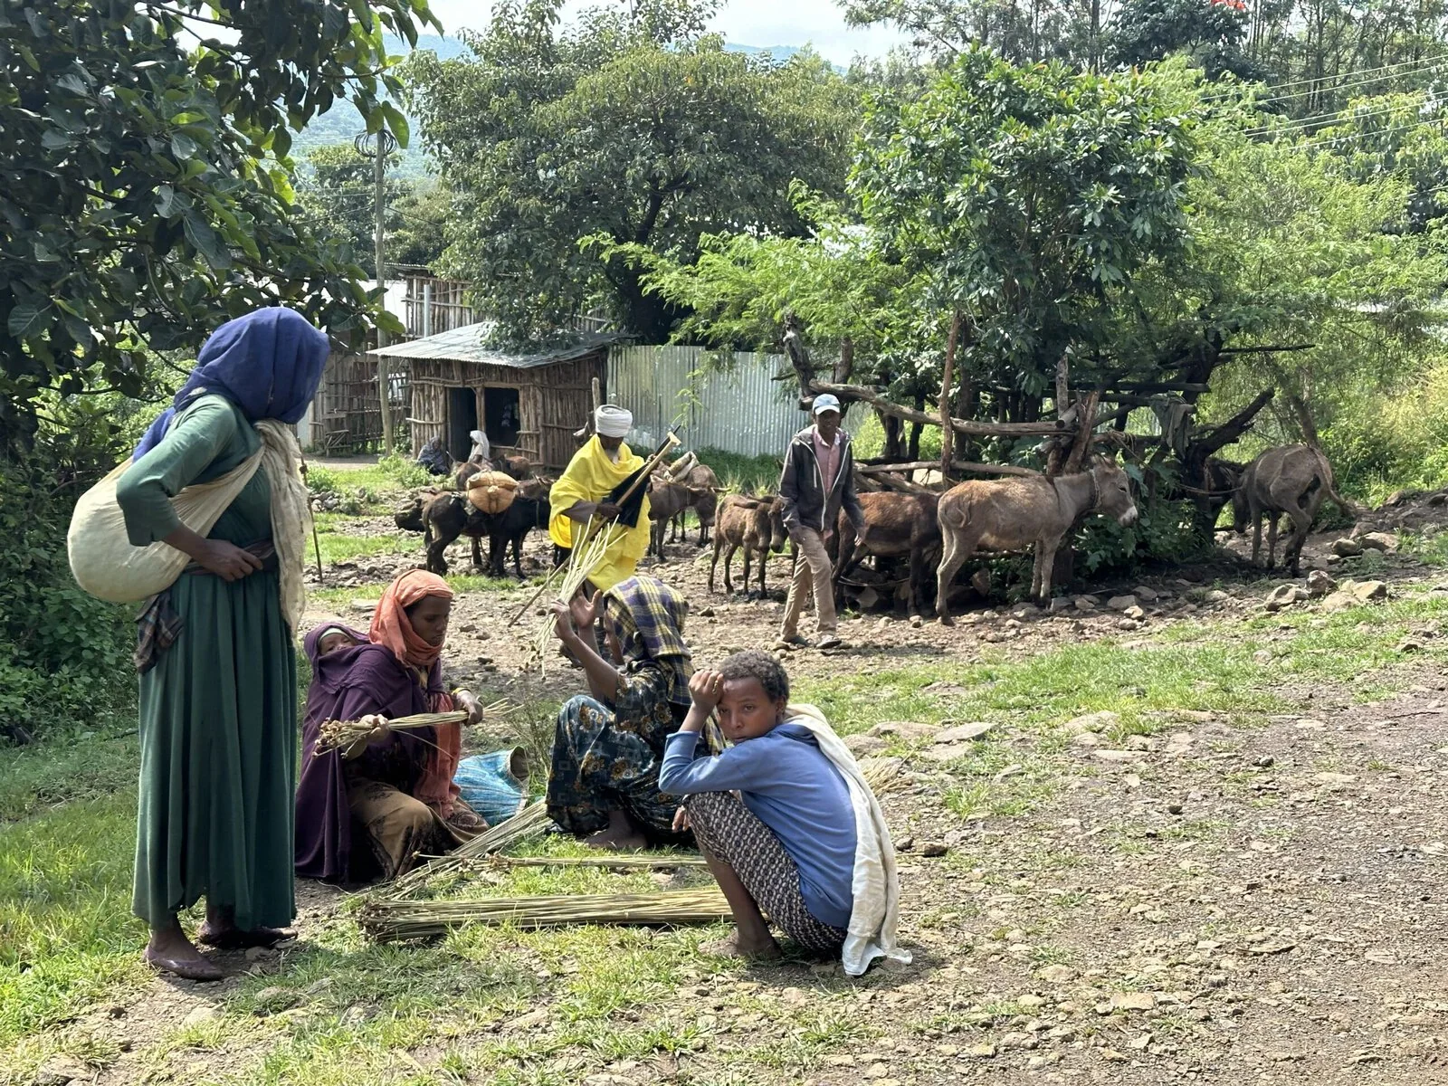
[[[588,578],[598,591],[607,591],[633,576],[639,559],[649,550],[647,492],[643,494],[639,520],[633,527],[614,521],[623,510],[611,497],[630,475],[643,468],[643,458],[624,445],[624,434],[631,426],[630,411],[614,404],[599,407],[594,413],[594,436],[573,453],[549,495],[547,534],[555,544],[571,550],[575,542],[582,542],[589,518],[598,531],[608,533],[604,560]]]

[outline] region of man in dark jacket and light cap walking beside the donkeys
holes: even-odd
[[[825,392],[815,397],[812,410],[815,424],[795,434],[779,476],[785,529],[799,547],[779,644],[809,644],[799,636],[799,614],[812,591],[818,647],[833,649],[841,641],[835,633],[834,578],[827,547],[840,510],[857,533],[864,530],[864,510],[854,494],[854,453],[850,450],[850,434],[840,429],[840,401]]]

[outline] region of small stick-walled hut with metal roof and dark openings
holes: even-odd
[[[482,346],[488,324],[468,324],[384,348],[395,369],[411,369],[413,455],[434,437],[453,459],[472,449],[468,436],[485,430],[494,455],[521,453],[533,463],[562,469],[588,421],[592,382],[608,392],[608,346],[621,336],[575,334],[566,346],[511,355]]]

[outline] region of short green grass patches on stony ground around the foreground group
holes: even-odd
[[[963,820],[1012,818],[1051,796],[1051,754],[1066,738],[1058,725],[1077,714],[1118,714],[1112,738],[1122,741],[1180,712],[1212,711],[1251,725],[1281,710],[1293,686],[1332,682],[1373,698],[1400,681],[1403,637],[1445,617],[1448,601],[1418,594],[1328,615],[1179,621],[1145,639],[1024,659],[988,650],[979,663],[808,679],[796,698],[821,705],[844,734],[892,720],[1009,724],[1028,737],[1025,746],[993,737],[972,746],[946,767],[944,804]],[[1429,641],[1420,654],[1441,660],[1445,650]],[[909,746],[895,741],[892,750]],[[56,736],[0,753],[0,1083],[30,1082],[55,1053],[97,1070],[135,1058],[87,1025],[94,1008],[146,983],[138,957],[143,933],[129,915],[135,772],[133,734]],[[549,838],[524,850],[578,847]],[[484,877],[482,891],[498,895],[654,885],[647,875],[589,869],[501,869]],[[711,1048],[708,1082],[794,1080],[822,1053],[867,1044],[882,1027],[860,1012],[862,993],[891,983],[888,973],[863,983],[822,977],[808,1001],[738,985],[724,1008],[691,995],[743,976],[737,963],[698,953],[723,927],[478,928],[429,946],[379,947],[359,935],[348,904],[327,896],[321,912],[298,948],[224,989],[214,1015],[156,1024],[136,1076],[248,1086],[469,1079],[562,1086],[630,1061],[665,1067],[670,1054],[721,1031],[747,1037],[757,1015],[770,1022],[769,1035]]]

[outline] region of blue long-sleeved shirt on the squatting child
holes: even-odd
[[[799,724],[780,724],[717,757],[694,757],[698,733],[676,731],[663,749],[659,791],[730,792],[775,831],[799,870],[809,914],[849,927],[854,904],[854,807],[850,786]]]

